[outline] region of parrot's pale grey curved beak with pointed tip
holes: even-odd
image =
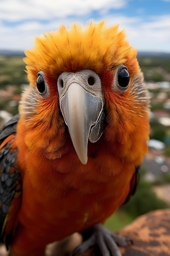
[[[75,151],[82,162],[86,164],[88,139],[92,126],[97,124],[103,109],[102,99],[90,92],[76,82],[69,85],[66,94],[61,100],[61,110],[66,125],[70,132]],[[99,131],[100,130],[100,131]],[[102,135],[103,129],[97,128],[98,135],[91,142],[95,142]],[[92,137],[94,131],[92,130]]]

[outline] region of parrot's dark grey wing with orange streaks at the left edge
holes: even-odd
[[[11,243],[15,216],[20,204],[21,177],[17,167],[15,145],[16,125],[19,115],[14,116],[0,131],[0,240]]]

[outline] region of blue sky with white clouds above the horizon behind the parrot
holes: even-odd
[[[0,49],[33,47],[62,23],[119,23],[138,51],[170,52],[170,0],[0,0]]]

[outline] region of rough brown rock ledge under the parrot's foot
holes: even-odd
[[[139,216],[117,232],[130,237],[133,245],[120,248],[123,256],[170,256],[170,209],[157,210]],[[100,256],[97,247],[75,256]]]

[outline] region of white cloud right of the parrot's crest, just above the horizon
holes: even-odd
[[[142,17],[108,16],[108,24],[119,23],[130,44],[139,51],[170,52],[170,15]]]

